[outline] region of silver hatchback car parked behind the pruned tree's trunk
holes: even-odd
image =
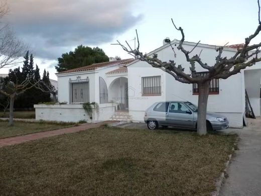
[[[145,111],[144,121],[149,129],[163,127],[197,128],[197,107],[190,102],[157,102]],[[228,128],[227,118],[207,112],[207,130]]]

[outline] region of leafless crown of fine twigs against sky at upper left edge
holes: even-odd
[[[9,12],[7,1],[0,0],[0,20]],[[19,40],[9,25],[0,23],[0,68],[19,62],[27,47]]]

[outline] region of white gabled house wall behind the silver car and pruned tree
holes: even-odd
[[[202,46],[202,45],[201,45]],[[185,49],[190,51],[194,46],[184,45]],[[217,52],[214,48],[197,47],[191,56],[199,54],[202,49],[200,58],[203,62],[212,66],[215,63]],[[170,47],[166,47],[156,52],[158,58],[162,61],[174,60],[176,65],[181,64],[185,68],[186,73],[190,73],[190,64],[186,61],[182,52],[175,49],[177,57],[174,58],[173,51]],[[224,49],[222,56],[230,57],[234,54],[232,49]],[[196,64],[196,71],[207,71],[200,65]],[[141,96],[141,77],[162,75],[162,95],[143,97]],[[128,85],[135,88],[135,97],[129,99],[129,113],[135,121],[143,121],[144,111],[153,103],[158,101],[190,101],[197,105],[198,95],[192,94],[192,84],[184,84],[176,81],[173,76],[164,71],[152,68],[146,62],[138,61],[128,66]],[[136,101],[135,99],[139,100]],[[140,100],[142,99],[142,100]],[[208,99],[207,110],[224,114],[230,121],[231,127],[243,126],[244,113],[244,73],[238,73],[227,79],[219,79],[219,94],[210,94]]]

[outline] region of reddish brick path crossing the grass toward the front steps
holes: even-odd
[[[82,124],[82,125],[79,125],[76,127],[69,127],[69,128],[57,129],[57,130],[53,130],[53,131],[45,131],[45,132],[32,133],[32,134],[23,135],[23,136],[4,138],[4,139],[0,139],[0,147],[14,145],[14,144],[21,144],[21,143],[32,141],[32,140],[38,140],[41,138],[62,135],[65,133],[75,133],[75,132],[84,131],[86,129],[96,128],[96,127],[100,127],[101,125],[111,124],[111,123],[115,123],[115,122],[111,122],[111,121],[106,122],[105,121],[105,122],[93,123],[93,124],[86,123],[86,124]]]

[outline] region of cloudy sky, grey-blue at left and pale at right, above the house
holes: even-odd
[[[124,42],[139,32],[141,51],[150,52],[163,39],[180,39],[172,26],[185,30],[186,40],[222,45],[242,43],[257,27],[256,0],[8,0],[9,23],[27,43],[41,72],[56,79],[57,58],[83,44],[102,48],[108,56],[130,56],[116,40]],[[260,36],[256,39],[260,42]],[[129,41],[134,45],[134,41]],[[0,73],[7,73],[1,69]]]

